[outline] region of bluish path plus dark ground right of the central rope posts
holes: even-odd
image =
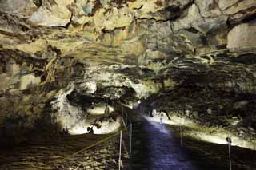
[[[136,116],[132,116],[134,143],[130,169],[224,170],[230,168],[226,145],[210,144],[184,136],[181,147],[178,127],[148,121],[138,111],[134,114]],[[234,154],[238,154],[232,157],[235,159],[234,169],[255,169],[256,152],[238,147],[231,149]]]

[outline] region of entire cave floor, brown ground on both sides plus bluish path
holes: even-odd
[[[125,169],[131,170],[226,170],[229,169],[227,146],[186,136],[182,147],[179,127],[149,121],[138,110],[126,110],[133,122],[133,144],[129,163],[122,156]],[[189,129],[183,127],[184,131]],[[0,169],[118,169],[118,137],[59,161],[108,135],[55,136],[35,139],[29,144],[0,150]],[[124,151],[123,151],[124,152]],[[256,169],[256,152],[231,147],[233,169]]]

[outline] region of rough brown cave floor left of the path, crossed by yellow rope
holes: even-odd
[[[0,169],[117,169],[118,137],[71,156],[109,135],[56,136],[0,150]],[[68,157],[66,160],[63,158]],[[123,160],[126,160],[123,157]]]

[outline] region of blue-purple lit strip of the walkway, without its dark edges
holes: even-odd
[[[147,137],[150,148],[150,168],[153,169],[198,169],[190,161],[186,152],[182,151],[180,142],[175,139],[165,125],[146,119],[143,131]]]

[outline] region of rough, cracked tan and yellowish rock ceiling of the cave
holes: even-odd
[[[0,124],[33,128],[70,89],[127,103],[181,86],[254,97],[255,15],[254,0],[0,0]]]

